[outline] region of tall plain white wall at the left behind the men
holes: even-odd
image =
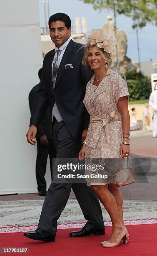
[[[25,134],[28,94],[42,67],[38,0],[0,1],[0,38],[0,195],[37,192],[37,148]]]

